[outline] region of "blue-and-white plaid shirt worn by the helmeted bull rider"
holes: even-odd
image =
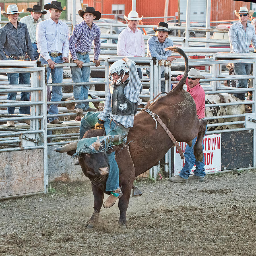
[[[137,66],[134,61],[125,57],[125,62],[129,68],[129,82],[125,86],[123,92],[131,102],[137,102],[139,99],[141,80],[137,72]],[[114,84],[110,85],[110,89],[104,102],[104,109],[100,112],[99,119],[107,120],[108,117],[114,119],[116,122],[121,123],[125,128],[133,127],[134,115],[113,115],[112,114],[112,92]]]

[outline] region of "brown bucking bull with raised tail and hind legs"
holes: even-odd
[[[205,120],[199,121],[196,112],[196,105],[192,96],[183,90],[183,84],[188,74],[188,59],[185,53],[176,47],[168,48],[180,53],[185,59],[185,72],[177,86],[166,96],[158,98],[149,105],[149,109],[157,114],[168,127],[175,139],[180,142],[187,142],[191,145],[192,139],[197,136],[194,146],[194,154],[198,161],[203,159],[202,139],[205,134]],[[102,130],[90,130],[84,137],[102,136]],[[166,152],[174,145],[164,129],[147,112],[140,112],[134,117],[134,126],[129,130],[127,137],[128,146],[123,150],[116,150],[116,161],[119,167],[119,184],[122,186],[123,196],[119,198],[118,207],[120,210],[119,223],[125,228],[126,210],[131,195],[131,188],[136,176],[156,165]],[[75,153],[77,143],[71,143],[61,148],[56,148],[57,152]],[[82,154],[79,163],[84,174],[91,180],[92,192],[94,195],[94,212],[90,220],[86,223],[87,228],[92,228],[98,221],[100,208],[102,207],[104,193],[106,192],[107,175],[101,175],[102,170],[106,170],[108,163],[106,153]],[[105,169],[104,169],[105,168]]]

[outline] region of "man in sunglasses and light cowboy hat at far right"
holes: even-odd
[[[230,41],[230,52],[248,53],[250,44],[256,49],[256,35],[253,26],[248,22],[253,10],[248,11],[245,6],[240,7],[235,15],[239,17],[239,21],[230,26],[228,31]],[[251,64],[234,63],[234,71],[236,75],[250,75]],[[239,79],[237,88],[246,88],[248,79]],[[240,100],[245,100],[244,93],[234,94]]]

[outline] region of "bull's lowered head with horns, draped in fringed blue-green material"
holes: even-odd
[[[123,143],[127,135],[128,133],[122,133],[121,135],[84,138],[79,142],[55,148],[54,151],[77,156],[84,174],[89,178],[96,178],[109,173],[107,153],[115,151],[117,145]]]

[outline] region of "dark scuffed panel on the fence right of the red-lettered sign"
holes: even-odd
[[[250,131],[222,133],[221,170],[246,168],[252,165],[253,133]]]

